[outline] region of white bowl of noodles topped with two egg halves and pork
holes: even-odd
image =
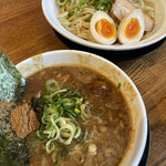
[[[42,10],[58,33],[92,49],[135,50],[166,37],[165,0],[42,0]]]

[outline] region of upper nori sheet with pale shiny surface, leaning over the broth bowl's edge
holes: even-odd
[[[25,80],[9,58],[0,53],[0,101],[19,101],[25,92]]]

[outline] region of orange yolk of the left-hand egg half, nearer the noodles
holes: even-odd
[[[115,37],[116,30],[113,23],[108,22],[106,19],[101,19],[95,24],[95,30],[97,33],[106,39],[112,39]]]

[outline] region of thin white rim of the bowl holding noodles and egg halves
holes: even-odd
[[[105,45],[105,44],[94,43],[94,42],[81,39],[74,34],[72,34],[70,31],[68,31],[65,28],[63,28],[59,21],[58,21],[58,23],[59,23],[60,28],[55,27],[55,24],[51,21],[50,17],[46,12],[45,2],[48,2],[48,1],[50,1],[50,0],[42,0],[41,7],[42,7],[43,14],[44,14],[46,21],[49,22],[49,24],[61,35],[65,37],[66,39],[71,40],[72,42],[75,42],[80,45],[84,45],[84,46],[96,49],[96,50],[105,50],[105,51],[128,51],[128,50],[146,48],[146,46],[152,45],[152,44],[160,41],[162,39],[166,38],[166,25],[165,25],[165,29],[164,29],[165,31],[163,31],[163,33],[159,34],[158,38],[156,38],[155,40],[152,40],[152,41],[147,41],[145,43],[138,43],[138,44],[135,43],[133,45],[125,45],[125,44]],[[163,1],[163,0],[160,0],[160,1]],[[164,4],[166,7],[166,3],[164,3]],[[166,13],[166,8],[165,8],[165,13]],[[165,24],[166,24],[166,22],[165,22]]]

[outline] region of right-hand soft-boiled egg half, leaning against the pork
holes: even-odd
[[[123,44],[138,42],[145,30],[144,14],[141,9],[128,13],[120,23],[117,35],[118,41]]]

